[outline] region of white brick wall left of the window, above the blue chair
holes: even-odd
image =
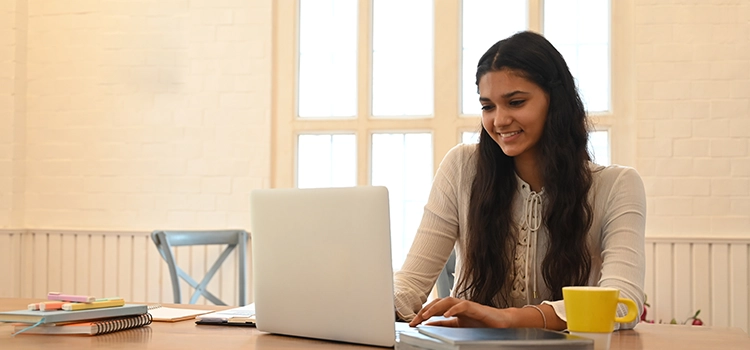
[[[28,2],[24,225],[248,228],[270,178],[271,6]]]

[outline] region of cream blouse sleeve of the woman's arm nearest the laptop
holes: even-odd
[[[401,270],[394,276],[399,318],[411,320],[427,301],[458,237],[458,177],[462,154],[454,148],[440,163],[422,221]]]

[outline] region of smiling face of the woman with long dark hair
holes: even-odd
[[[549,108],[547,93],[522,75],[502,69],[479,79],[479,102],[482,126],[503,153],[515,161],[536,161]]]

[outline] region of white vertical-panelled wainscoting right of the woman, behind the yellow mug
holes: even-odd
[[[709,326],[750,324],[750,239],[647,238],[647,318],[685,321],[695,311]]]

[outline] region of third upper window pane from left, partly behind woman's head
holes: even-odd
[[[461,113],[480,114],[476,69],[492,44],[528,29],[527,0],[464,0],[462,11]]]

